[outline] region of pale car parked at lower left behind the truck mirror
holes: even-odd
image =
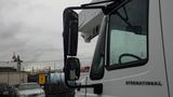
[[[22,83],[17,86],[17,96],[45,97],[45,93],[38,83]]]

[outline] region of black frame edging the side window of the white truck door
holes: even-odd
[[[145,59],[142,59],[142,60],[136,60],[136,61],[130,61],[130,63],[125,63],[125,64],[121,64],[121,65],[119,65],[119,64],[116,64],[116,65],[110,65],[110,58],[109,58],[109,54],[110,54],[110,34],[111,34],[111,32],[110,32],[110,16],[111,16],[111,14],[109,14],[109,17],[108,17],[108,31],[107,31],[107,38],[106,38],[106,44],[107,44],[107,46],[106,46],[106,69],[108,70],[108,71],[110,71],[110,70],[117,70],[117,69],[125,69],[125,68],[132,68],[132,67],[139,67],[139,66],[144,66],[144,65],[146,65],[147,63],[148,63],[148,60],[149,60],[149,0],[147,0],[147,14],[146,14],[146,16],[147,16],[147,31],[146,31],[146,46],[147,46],[147,48],[146,48],[146,51],[147,51],[147,56],[146,56],[146,58]]]

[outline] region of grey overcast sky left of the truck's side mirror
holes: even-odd
[[[63,11],[91,0],[0,0],[0,60],[63,59]]]

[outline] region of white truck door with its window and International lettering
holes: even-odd
[[[103,94],[88,97],[169,97],[159,14],[157,0],[131,0],[109,15],[105,56],[96,48],[88,81]]]

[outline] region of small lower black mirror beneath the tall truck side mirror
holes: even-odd
[[[80,78],[80,61],[78,58],[68,57],[64,68],[67,81],[76,81]]]

